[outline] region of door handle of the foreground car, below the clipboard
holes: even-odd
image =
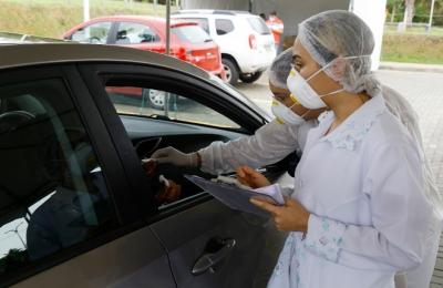
[[[222,239],[220,244],[222,246],[215,253],[205,253],[195,261],[190,271],[194,276],[204,274],[207,270],[215,272],[215,267],[230,254],[236,245],[236,240],[233,238]]]

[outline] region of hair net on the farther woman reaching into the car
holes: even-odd
[[[274,59],[269,68],[269,82],[281,89],[288,89],[286,81],[289,76],[292,63],[292,48],[288,48]]]

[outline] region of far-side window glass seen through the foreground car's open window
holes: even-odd
[[[183,121],[214,127],[239,128],[228,117],[189,97],[141,86],[106,86],[119,114]]]

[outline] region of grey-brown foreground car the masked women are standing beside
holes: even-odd
[[[141,166],[161,147],[250,135],[266,112],[159,53],[63,43],[6,44],[0,54],[1,287],[266,284],[281,248],[267,218],[183,177],[212,175],[159,165],[147,176]],[[163,111],[146,105],[151,89],[165,92]],[[264,168],[277,179],[286,167]],[[182,185],[178,200],[156,202],[158,174]]]

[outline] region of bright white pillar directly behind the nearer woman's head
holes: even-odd
[[[352,0],[350,10],[358,14],[371,28],[375,39],[374,52],[372,53],[372,70],[380,65],[381,44],[383,41],[383,29],[385,18],[387,0]]]

